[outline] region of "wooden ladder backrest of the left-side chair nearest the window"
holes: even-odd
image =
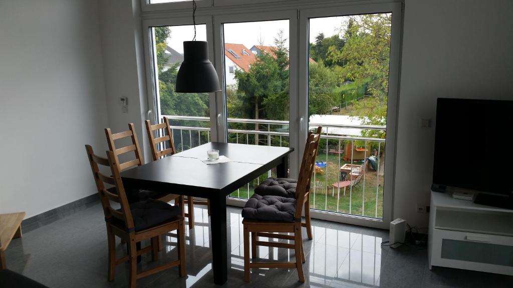
[[[161,124],[151,125],[149,120],[146,120],[146,132],[148,132],[148,139],[150,140],[151,156],[153,161],[160,159],[162,156],[173,155],[176,153],[173,142],[173,133],[169,125],[169,119],[163,117]],[[159,137],[160,136],[160,137]],[[159,146],[165,147],[165,143],[169,141],[168,148],[159,151]],[[162,144],[161,144],[162,143]]]

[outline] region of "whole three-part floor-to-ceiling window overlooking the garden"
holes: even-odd
[[[229,2],[198,2],[203,11],[195,19],[196,39],[208,40],[222,82],[221,92],[204,94],[174,92],[181,43],[194,33],[192,3],[143,5],[151,8],[143,13],[143,28],[152,121],[171,119],[178,151],[208,141],[293,147],[291,177],[297,176],[307,131],[322,126],[313,215],[385,227],[391,218],[400,5],[319,8],[284,1],[273,8],[254,1],[245,9]],[[175,4],[190,5],[190,11],[168,9]],[[274,175],[269,171],[230,197],[247,199]]]

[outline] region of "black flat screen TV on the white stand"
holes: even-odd
[[[513,101],[438,98],[433,187],[487,192],[476,202],[511,208],[512,136]]]

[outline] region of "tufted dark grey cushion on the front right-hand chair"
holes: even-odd
[[[242,209],[242,217],[248,219],[293,222],[295,199],[280,196],[253,194]]]

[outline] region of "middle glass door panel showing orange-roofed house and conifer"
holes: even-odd
[[[295,12],[295,11],[294,11]],[[216,17],[220,30],[218,63],[223,78],[224,132],[229,143],[294,147],[297,130],[291,129],[296,110],[295,87],[291,83],[291,31],[295,31],[295,13],[247,14]],[[292,28],[293,27],[293,28]],[[296,50],[297,51],[297,50]],[[294,64],[292,64],[294,62]],[[221,78],[221,77],[220,77]],[[292,101],[293,99],[294,101]],[[293,143],[293,144],[292,144]],[[291,146],[292,145],[292,146]],[[297,163],[291,154],[291,170]],[[291,171],[294,173],[294,171]],[[261,175],[230,194],[233,199],[248,199],[267,177],[276,177],[275,169]]]

